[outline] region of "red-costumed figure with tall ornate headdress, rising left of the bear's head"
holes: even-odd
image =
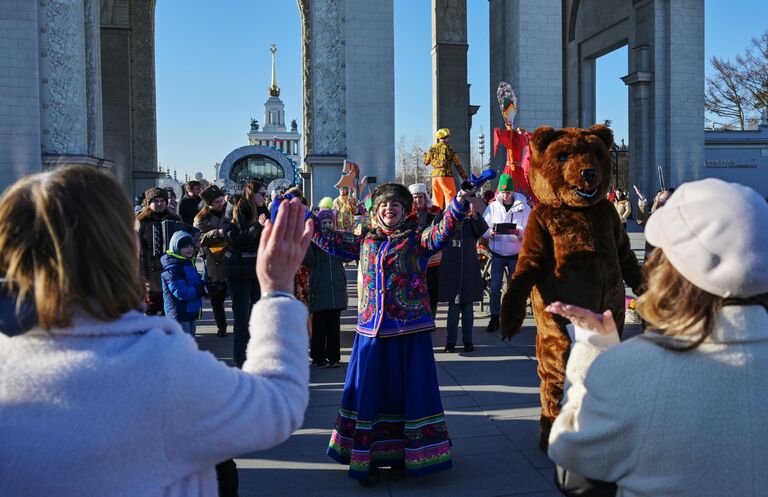
[[[528,168],[531,162],[528,144],[531,134],[523,128],[515,129],[514,127],[517,97],[509,83],[504,81],[499,83],[496,96],[504,118],[505,129],[494,128],[493,130],[493,155],[496,156],[499,145],[507,149],[507,162],[502,174],[509,175],[514,182],[515,191],[522,193],[535,204],[536,196],[528,183]]]

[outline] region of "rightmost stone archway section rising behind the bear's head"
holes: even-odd
[[[698,0],[566,0],[563,124],[595,114],[595,59],[628,46],[630,183],[659,188],[702,174],[704,6]],[[565,18],[565,16],[564,16]],[[675,49],[672,49],[674,45]]]

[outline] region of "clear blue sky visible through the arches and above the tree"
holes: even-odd
[[[395,138],[430,141],[431,0],[394,0]],[[470,103],[480,105],[473,147],[488,130],[488,1],[468,0]],[[768,1],[705,0],[705,56],[733,58],[768,28]],[[286,120],[301,130],[301,24],[295,0],[159,0],[156,11],[158,160],[183,179],[247,144],[251,117],[263,122],[270,84],[269,45],[278,46],[278,85]],[[709,69],[709,63],[706,63]],[[626,138],[626,48],[598,59],[597,121]],[[488,139],[486,140],[489,141]],[[487,147],[489,148],[489,147]]]

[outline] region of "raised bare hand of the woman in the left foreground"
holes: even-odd
[[[294,276],[314,232],[311,218],[304,220],[305,211],[299,199],[283,200],[275,222],[266,221],[256,259],[262,293],[293,293]]]

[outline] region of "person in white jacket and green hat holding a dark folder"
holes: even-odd
[[[499,313],[501,312],[501,285],[506,269],[511,277],[517,266],[517,258],[523,246],[523,233],[528,224],[531,208],[522,193],[514,191],[514,183],[508,174],[499,178],[499,192],[496,200],[488,204],[483,218],[488,223],[488,231],[483,235],[488,239],[488,250],[491,252],[491,288],[490,308],[491,319],[486,331],[494,332],[499,329]],[[509,233],[497,231],[497,225],[516,225]]]

